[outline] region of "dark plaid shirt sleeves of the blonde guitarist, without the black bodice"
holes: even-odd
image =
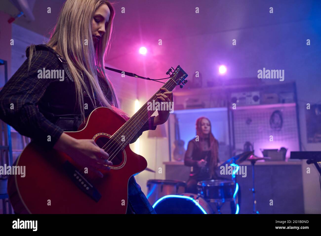
[[[63,130],[50,122],[48,117],[46,118],[39,111],[37,105],[46,90],[50,88],[51,83],[59,79],[38,79],[38,70],[42,70],[42,68],[46,68],[46,70],[62,69],[61,62],[52,48],[46,45],[37,45],[28,71],[28,47],[26,56],[25,62],[0,91],[0,119],[11,125],[20,134],[36,140],[47,148],[52,148]],[[51,100],[54,102],[55,98],[52,97]],[[68,105],[68,100],[65,102]],[[71,105],[74,106],[74,104]],[[143,131],[156,129],[156,126],[153,125],[154,118],[155,116],[149,118],[130,143],[136,141]],[[50,142],[48,135],[50,135]]]

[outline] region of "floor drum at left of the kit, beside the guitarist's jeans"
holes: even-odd
[[[148,180],[147,199],[153,205],[158,199],[170,194],[185,192],[186,182],[177,180]]]

